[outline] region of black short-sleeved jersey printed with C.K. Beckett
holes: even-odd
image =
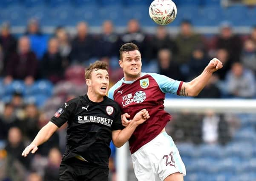
[[[104,97],[100,103],[87,95],[69,100],[58,109],[51,122],[67,127],[67,144],[63,160],[82,156],[90,163],[108,166],[113,130],[123,129],[121,111],[115,101]]]

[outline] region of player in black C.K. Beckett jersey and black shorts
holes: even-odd
[[[64,103],[52,119],[25,148],[22,156],[35,153],[37,146],[68,123],[66,151],[60,164],[60,181],[107,181],[110,141],[121,147],[128,141],[135,128],[150,116],[139,111],[124,128],[121,111],[115,101],[106,97],[109,87],[107,64],[96,61],[85,72],[87,95]]]

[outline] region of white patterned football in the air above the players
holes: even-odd
[[[154,0],[149,8],[150,18],[158,25],[168,25],[177,15],[177,7],[172,0]]]

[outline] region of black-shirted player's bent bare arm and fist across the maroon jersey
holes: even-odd
[[[132,133],[135,131],[138,125],[144,123],[150,115],[146,109],[142,109],[139,111],[126,128],[123,130],[115,130],[112,131],[112,141],[114,145],[118,148],[124,145],[128,141],[128,139],[132,136]]]

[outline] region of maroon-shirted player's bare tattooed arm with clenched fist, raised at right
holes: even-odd
[[[197,96],[207,84],[213,72],[221,69],[222,67],[223,65],[221,61],[219,61],[217,58],[213,58],[205,67],[201,75],[194,78],[190,82],[184,82],[177,94],[182,96]]]

